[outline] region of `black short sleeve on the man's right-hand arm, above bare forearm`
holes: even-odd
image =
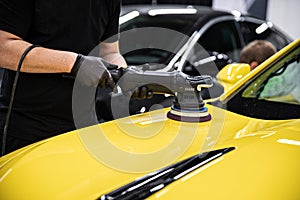
[[[106,26],[105,33],[103,34],[103,40],[105,42],[115,42],[119,40],[119,17],[121,12],[121,2],[120,1],[111,1],[116,2],[111,5],[111,14],[110,19],[108,20],[108,25]],[[102,41],[103,41],[102,40]]]

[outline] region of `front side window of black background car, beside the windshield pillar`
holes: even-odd
[[[201,30],[200,30],[201,31]],[[234,21],[213,24],[204,31],[189,50],[183,72],[192,76],[216,74],[232,61],[237,61],[241,43]]]

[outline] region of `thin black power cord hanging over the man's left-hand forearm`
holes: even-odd
[[[3,130],[1,156],[3,156],[5,154],[8,125],[9,125],[9,121],[10,121],[10,115],[11,115],[12,106],[13,106],[13,102],[14,102],[14,98],[15,98],[15,92],[16,92],[16,88],[17,88],[18,79],[20,76],[21,67],[22,67],[22,64],[23,64],[23,61],[24,61],[26,55],[29,53],[29,51],[31,51],[35,47],[39,47],[39,45],[33,44],[33,45],[27,47],[27,49],[25,49],[24,53],[22,54],[22,56],[20,58],[20,61],[19,61],[18,67],[17,67],[15,79],[14,79],[13,86],[11,89],[11,96],[10,96],[10,100],[9,100],[8,111],[7,111],[4,130]]]

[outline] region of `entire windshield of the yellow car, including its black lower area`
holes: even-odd
[[[300,118],[300,47],[249,82],[223,108],[261,119]]]

